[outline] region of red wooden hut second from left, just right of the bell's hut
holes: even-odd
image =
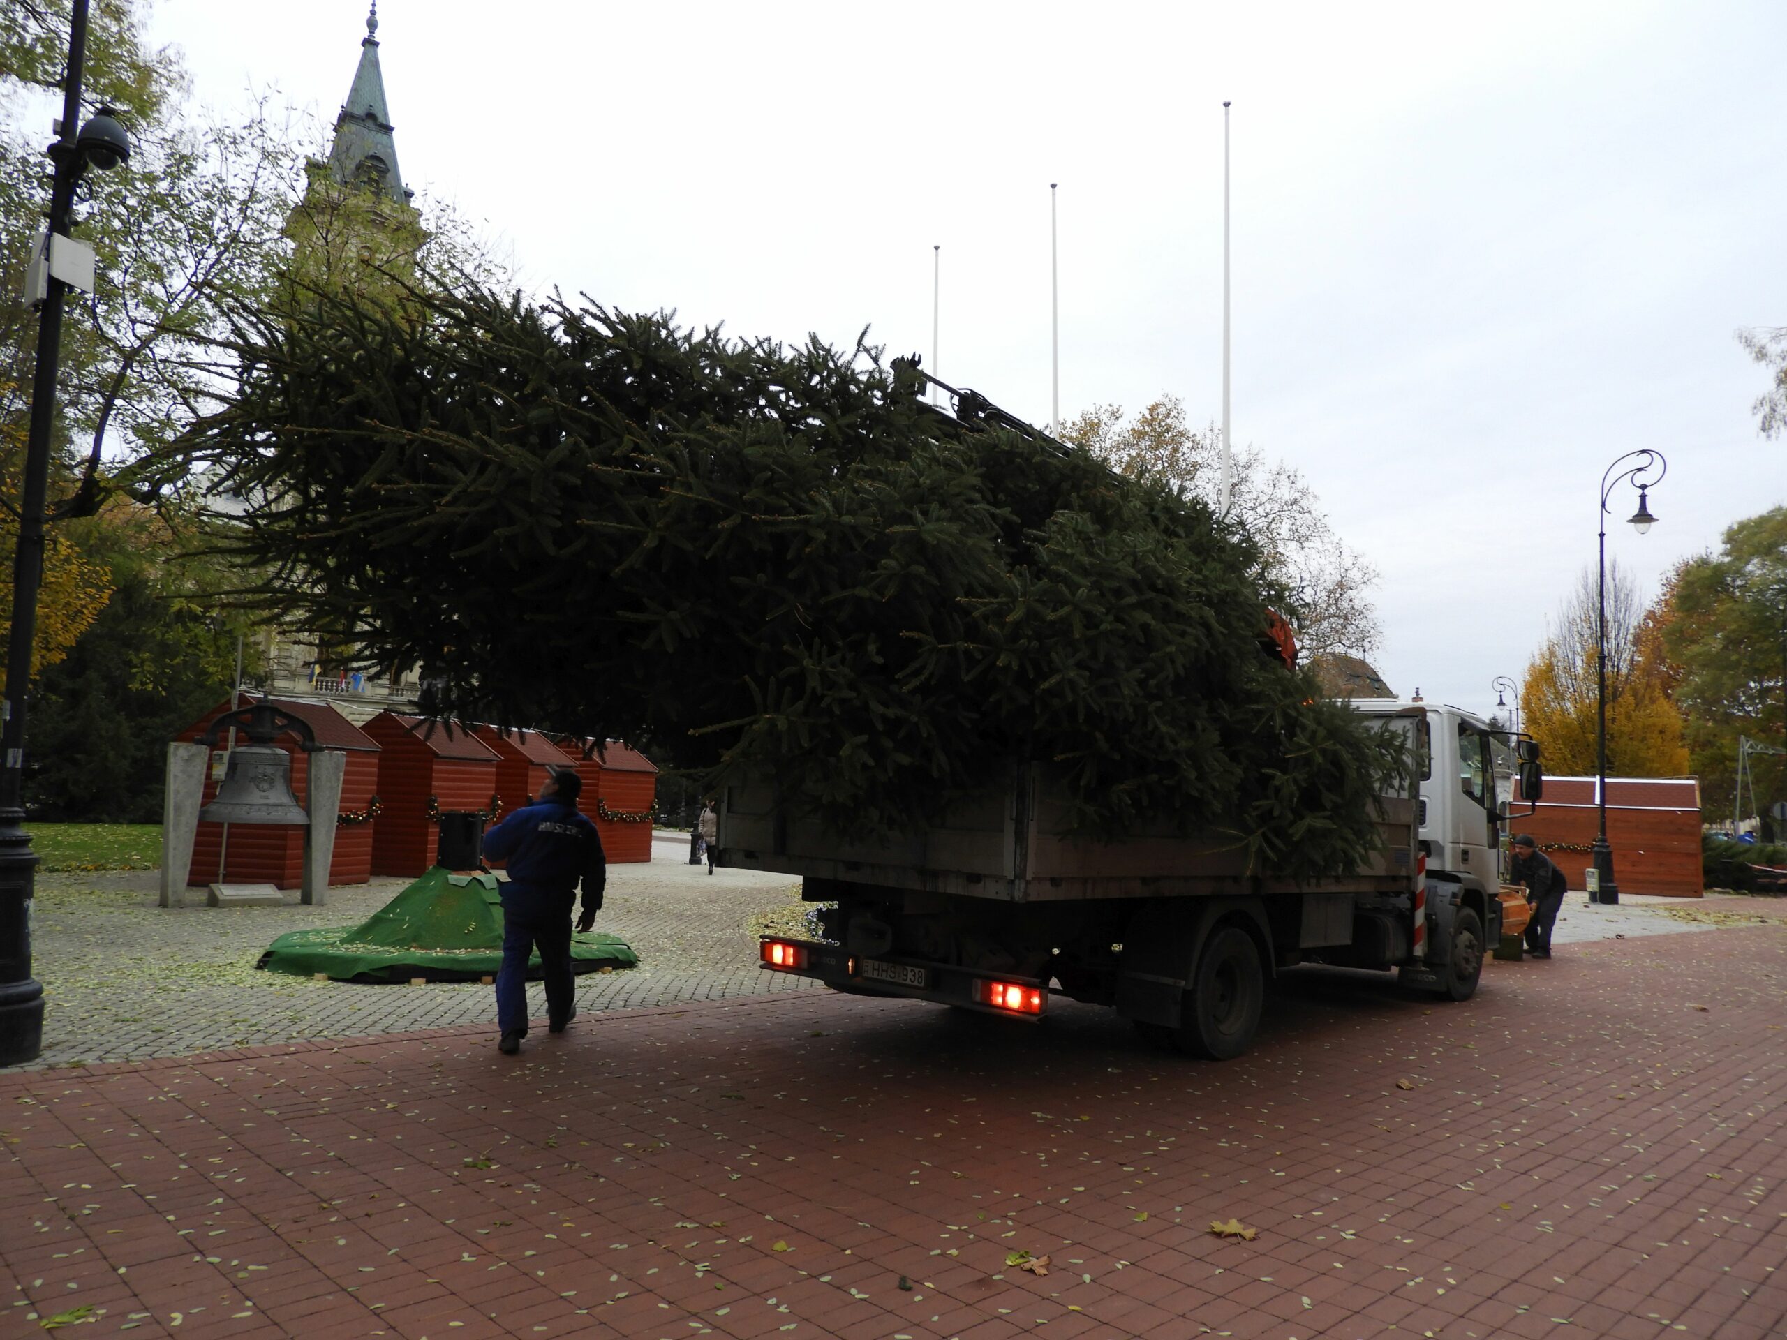
[[[457,722],[381,711],[363,727],[379,749],[384,811],[372,838],[372,872],[415,879],[434,865],[436,815],[500,806],[497,754]]]

